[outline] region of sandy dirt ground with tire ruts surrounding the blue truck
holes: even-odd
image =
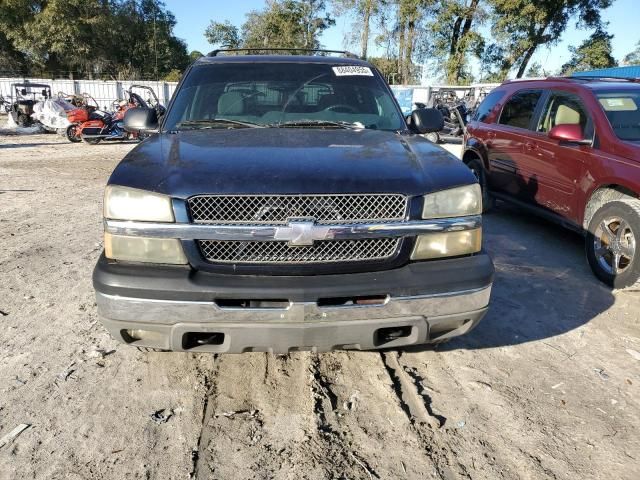
[[[491,310],[438,348],[142,353],[98,322],[131,144],[0,134],[0,479],[638,479],[640,292],[499,205]],[[0,440],[0,445],[2,440]]]

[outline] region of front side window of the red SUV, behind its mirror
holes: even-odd
[[[554,92],[538,121],[538,132],[548,133],[556,125],[580,125],[584,138],[593,138],[593,122],[580,97],[572,93]]]

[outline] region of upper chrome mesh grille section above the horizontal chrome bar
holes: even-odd
[[[188,200],[194,223],[286,225],[290,219],[317,224],[402,222],[408,198],[398,194],[196,195]]]

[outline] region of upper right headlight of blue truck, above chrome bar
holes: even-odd
[[[480,185],[449,188],[424,196],[422,218],[464,217],[482,213]]]

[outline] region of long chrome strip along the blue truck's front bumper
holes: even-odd
[[[171,325],[189,323],[308,323],[403,317],[438,317],[485,308],[491,285],[474,290],[412,297],[388,297],[381,304],[319,307],[290,302],[286,308],[221,308],[215,302],[153,300],[96,292],[98,312],[117,321]]]

